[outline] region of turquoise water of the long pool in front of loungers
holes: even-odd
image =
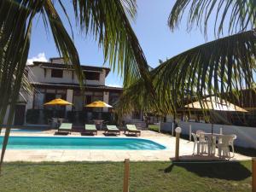
[[[3,143],[3,137],[0,137]],[[1,147],[1,145],[0,145]],[[148,139],[115,137],[9,137],[7,148],[19,149],[128,149],[160,150],[166,147]]]

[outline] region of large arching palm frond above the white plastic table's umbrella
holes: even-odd
[[[251,89],[255,80],[255,45],[256,33],[252,30],[189,49],[155,69],[156,91],[162,100],[172,104],[195,96],[225,99],[227,93]]]

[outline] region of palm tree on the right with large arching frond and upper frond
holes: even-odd
[[[186,13],[186,14],[184,14]],[[206,95],[236,100],[241,89],[253,89],[256,69],[256,2],[253,0],[177,0],[168,19],[172,30],[188,15],[188,30],[199,26],[207,37],[207,24],[215,20],[216,40],[201,44],[168,59],[150,72],[155,98],[137,91],[143,86],[138,80],[125,90],[120,103],[131,98],[130,106],[121,106],[122,112],[133,108],[176,113],[187,99],[203,99]],[[225,24],[228,26],[225,28]],[[224,32],[230,36],[219,38]],[[147,88],[140,88],[147,90]],[[189,90],[189,91],[187,91]],[[133,94],[132,94],[133,93]],[[227,94],[227,93],[232,93]]]

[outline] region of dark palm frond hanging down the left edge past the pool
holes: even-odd
[[[30,3],[23,1],[20,4],[9,1],[0,3],[0,9],[5,9],[5,13],[7,13],[7,15],[4,15],[0,19],[0,90],[4,90],[2,101],[0,102],[1,125],[9,107],[9,117],[3,138],[0,169],[9,139],[10,126],[14,119],[15,104],[20,94],[22,77],[26,67],[30,47],[32,18],[36,14],[39,4],[39,2]],[[26,9],[26,7],[32,9]],[[0,15],[3,12],[1,11]]]

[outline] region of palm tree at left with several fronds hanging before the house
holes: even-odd
[[[73,63],[82,86],[84,77],[79,67],[79,54],[73,38],[61,22],[59,10],[55,9],[57,3],[69,20],[63,0],[0,1],[0,125],[3,125],[8,108],[10,112],[3,139],[1,165],[14,119],[15,102],[22,86],[32,23],[36,16],[41,16],[45,28],[50,29],[59,54],[65,61]],[[123,75],[125,87],[134,79],[149,78],[147,61],[129,21],[136,15],[135,0],[73,0],[71,4],[79,28],[84,34],[90,32],[96,39],[103,49],[105,61],[108,60],[110,66]],[[70,21],[69,24],[72,29]],[[23,79],[23,82],[26,80]]]

